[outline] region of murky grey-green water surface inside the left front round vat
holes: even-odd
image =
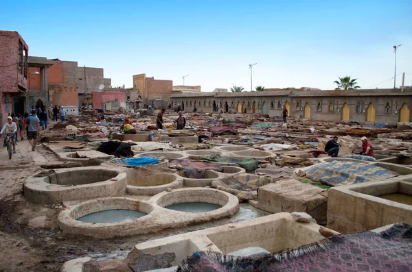
[[[138,210],[101,210],[100,212],[92,212],[91,214],[86,214],[78,219],[84,223],[117,223],[123,221],[130,221],[144,217],[147,215],[144,212],[139,212]]]

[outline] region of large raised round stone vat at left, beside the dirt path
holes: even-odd
[[[42,172],[27,178],[24,195],[41,204],[123,195],[127,180],[120,171],[89,166]]]

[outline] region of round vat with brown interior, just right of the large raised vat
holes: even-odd
[[[128,177],[126,192],[130,195],[156,195],[167,188],[182,188],[183,178],[174,173],[153,173],[137,170],[133,177]]]

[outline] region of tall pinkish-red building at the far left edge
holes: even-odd
[[[25,108],[29,47],[18,32],[0,31],[0,125]],[[14,103],[17,101],[17,103]]]

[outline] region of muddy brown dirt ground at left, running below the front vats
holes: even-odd
[[[0,149],[0,272],[60,271],[63,262],[85,256],[95,260],[126,258],[134,245],[146,240],[267,214],[242,203],[234,217],[179,230],[108,240],[69,236],[57,227],[60,208],[30,203],[23,195],[26,178],[42,171],[39,165],[54,162],[56,157],[42,147],[32,152],[27,140],[19,142],[17,149],[12,160]]]

